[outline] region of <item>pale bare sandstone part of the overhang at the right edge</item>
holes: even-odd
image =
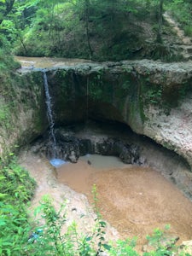
[[[145,108],[147,117],[143,134],[157,143],[177,152],[192,166],[192,96],[185,98],[181,105],[172,108],[169,115],[160,108]]]

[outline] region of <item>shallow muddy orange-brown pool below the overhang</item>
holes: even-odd
[[[90,164],[87,163],[90,160]],[[171,224],[180,241],[192,238],[192,203],[159,172],[149,167],[124,165],[118,158],[84,157],[77,164],[57,168],[60,183],[86,195],[93,203],[93,184],[102,217],[123,236],[143,243],[154,228]]]

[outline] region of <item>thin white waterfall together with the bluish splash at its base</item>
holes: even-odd
[[[59,167],[66,162],[64,160],[58,159],[56,155],[56,138],[55,138],[55,130],[54,130],[54,117],[53,117],[53,111],[52,111],[52,102],[51,102],[51,97],[49,94],[49,84],[48,84],[48,79],[47,79],[47,74],[44,71],[44,92],[45,92],[45,97],[46,97],[46,105],[47,105],[47,117],[49,121],[49,136],[51,140],[51,145],[52,145],[52,159],[50,160],[50,164],[55,167]]]

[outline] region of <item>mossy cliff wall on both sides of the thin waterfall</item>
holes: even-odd
[[[48,62],[44,67],[56,125],[86,119],[119,121],[182,155],[192,166],[192,62]],[[3,136],[14,134],[9,145],[16,138],[23,143],[38,137],[47,127],[43,79],[37,63],[33,64],[34,68],[21,69],[20,75],[15,75],[20,77],[20,85],[15,86],[18,121],[14,130]],[[20,90],[23,94],[30,91],[31,97],[21,95]]]

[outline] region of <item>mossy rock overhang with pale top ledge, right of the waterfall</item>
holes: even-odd
[[[184,115],[187,122],[184,121],[183,127],[176,128],[177,125],[172,124],[172,115],[176,112],[177,120],[182,123],[183,113],[179,109],[186,112],[182,106],[186,98],[190,102],[192,61],[165,63],[140,60],[100,63],[86,60],[65,62],[50,58],[46,61],[49,65],[38,67],[36,58],[33,66],[24,66],[18,73],[24,76],[26,73],[47,73],[53,100],[59,101],[55,104],[58,123],[65,124],[67,119],[73,122],[75,114],[79,114],[79,118],[74,121],[85,119],[86,108],[90,107],[93,118],[123,122],[133,131],[182,155],[192,166],[192,148],[189,143],[192,109],[188,108],[188,117]],[[62,96],[64,98],[60,101]],[[96,113],[96,108],[99,113]],[[165,133],[167,125],[170,128]],[[188,131],[187,135],[183,131]],[[172,133],[175,139],[170,136]]]

